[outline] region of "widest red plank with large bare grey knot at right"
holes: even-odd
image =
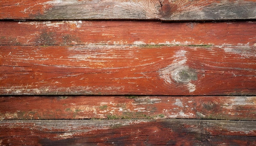
[[[1,46],[1,95],[254,95],[255,46]]]

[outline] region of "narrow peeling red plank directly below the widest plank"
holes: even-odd
[[[256,97],[15,96],[0,97],[0,119],[256,120]]]

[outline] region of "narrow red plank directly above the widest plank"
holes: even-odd
[[[0,21],[2,45],[249,45],[256,21]]]

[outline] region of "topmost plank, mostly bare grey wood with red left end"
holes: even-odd
[[[0,19],[243,20],[255,0],[1,0]]]

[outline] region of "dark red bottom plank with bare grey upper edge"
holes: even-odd
[[[256,122],[221,120],[0,121],[1,145],[247,145]]]

